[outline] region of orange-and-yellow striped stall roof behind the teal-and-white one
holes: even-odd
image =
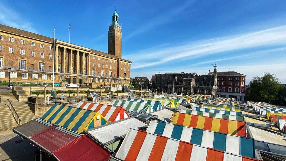
[[[174,115],[171,118],[171,123],[226,134],[246,136],[246,122],[244,121],[234,121],[223,118],[213,118],[174,112]]]

